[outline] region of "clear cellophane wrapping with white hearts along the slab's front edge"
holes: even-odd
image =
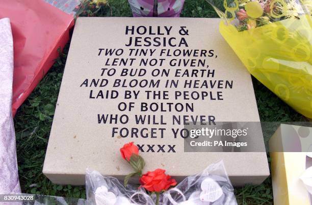
[[[150,197],[144,189],[125,189],[116,178],[90,169],[86,172],[86,194],[87,203],[92,205],[154,205],[156,199],[155,194]],[[163,192],[159,204],[237,205],[237,201],[223,161],[219,161]]]

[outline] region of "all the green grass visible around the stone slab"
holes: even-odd
[[[109,1],[93,13],[81,16],[132,16],[127,1]],[[217,17],[203,0],[186,0],[181,17]],[[22,104],[15,119],[19,180],[23,193],[85,198],[84,186],[55,185],[42,174],[42,166],[54,109],[60,89],[69,43],[47,75]],[[304,121],[304,117],[283,103],[265,86],[253,78],[261,121]],[[239,204],[273,204],[271,178],[258,186],[247,185],[235,190]]]

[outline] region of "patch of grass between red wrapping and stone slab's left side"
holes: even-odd
[[[42,174],[45,150],[60,90],[69,44],[19,108],[15,134],[19,180],[23,193],[85,198],[85,188],[51,183]]]

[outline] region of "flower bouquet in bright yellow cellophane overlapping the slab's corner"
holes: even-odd
[[[248,71],[284,102],[307,118],[312,118],[310,16],[312,2],[299,0],[224,2],[208,0],[208,2],[222,19],[221,35]],[[247,9],[252,13],[254,8],[246,5],[257,6],[257,3],[264,9],[263,16],[248,16]],[[244,20],[240,21],[242,19]],[[247,22],[245,30],[244,22]],[[262,23],[263,25],[259,25]]]

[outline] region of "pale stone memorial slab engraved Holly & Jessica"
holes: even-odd
[[[258,122],[250,74],[218,31],[220,19],[78,18],[43,173],[85,183],[85,169],[123,178],[119,149],[134,141],[145,171],[177,180],[223,160],[235,186],[269,175],[264,152],[185,152],[188,122]]]

